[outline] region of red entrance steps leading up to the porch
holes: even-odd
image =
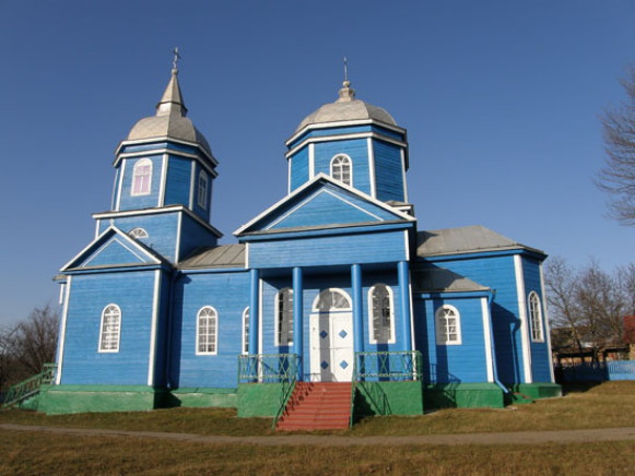
[[[277,430],[339,430],[349,428],[351,382],[297,382]]]

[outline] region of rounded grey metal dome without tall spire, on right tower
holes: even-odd
[[[374,119],[390,126],[397,126],[397,122],[386,109],[355,99],[355,90],[349,86],[350,83],[344,81],[344,85],[339,92],[340,97],[338,100],[325,104],[308,115],[295,131],[297,132],[309,124],[365,119]]]

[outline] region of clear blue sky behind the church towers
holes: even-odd
[[[631,262],[635,229],[604,216],[592,177],[634,24],[628,0],[0,0],[0,325],[56,302],[175,46],[220,162],[224,243],[284,195],[284,141],[337,98],[346,56],[357,97],[408,129],[420,229],[481,224],[575,265]]]

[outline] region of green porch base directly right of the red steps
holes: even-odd
[[[422,383],[357,382],[355,415],[422,415]]]

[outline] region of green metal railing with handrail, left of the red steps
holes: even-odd
[[[271,424],[275,429],[293,394],[297,379],[298,357],[296,354],[252,354],[238,356],[239,383],[281,383],[280,405]]]

